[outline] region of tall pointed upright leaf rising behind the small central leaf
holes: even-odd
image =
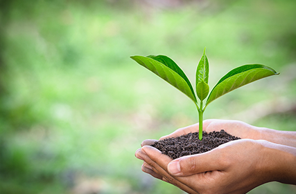
[[[204,48],[204,53],[200,62],[198,63],[198,68],[196,70],[196,86],[199,82],[204,81],[208,84],[209,82],[209,61],[206,55],[206,48]]]

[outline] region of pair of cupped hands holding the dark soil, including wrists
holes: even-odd
[[[247,193],[272,181],[296,184],[295,132],[279,132],[238,121],[204,121],[203,130],[207,133],[217,128],[242,139],[207,153],[174,160],[149,146],[157,140],[147,139],[135,153],[143,160],[142,171],[187,193]],[[195,124],[161,139],[197,131]]]

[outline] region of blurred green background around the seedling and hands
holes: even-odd
[[[0,193],[182,193],[141,172],[143,139],[198,122],[131,55],[167,55],[209,84],[243,64],[281,72],[204,117],[296,130],[296,1],[0,0]],[[250,193],[295,193],[272,182]]]

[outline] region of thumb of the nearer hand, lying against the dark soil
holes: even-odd
[[[188,155],[174,159],[168,163],[168,172],[174,176],[189,176],[207,171],[222,171],[225,165],[219,159],[219,154],[215,151]]]

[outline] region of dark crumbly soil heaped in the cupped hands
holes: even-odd
[[[176,159],[184,155],[204,153],[236,139],[241,138],[232,136],[226,133],[225,130],[210,133],[203,131],[202,141],[198,139],[198,133],[189,133],[180,137],[159,140],[151,146],[159,149],[159,151],[172,159]]]

